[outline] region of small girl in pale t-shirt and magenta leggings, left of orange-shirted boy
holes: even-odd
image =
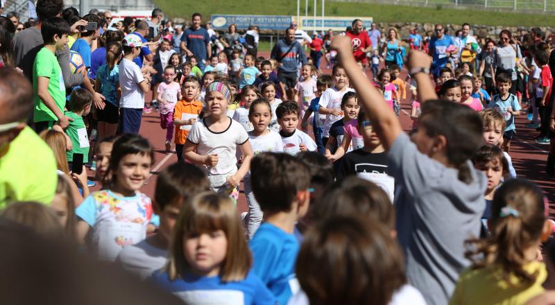
[[[156,97],[158,105],[160,105],[160,127],[166,130],[166,153],[171,150],[171,140],[173,139],[173,108],[182,98],[179,82],[174,82],[174,78],[176,78],[176,68],[166,67],[164,82],[158,85]]]

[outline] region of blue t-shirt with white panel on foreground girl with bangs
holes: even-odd
[[[248,272],[242,281],[227,283],[221,281],[219,276],[199,277],[191,274],[170,281],[168,274],[160,271],[155,272],[151,280],[182,299],[185,304],[198,304],[203,300],[202,304],[275,305],[275,297],[253,272]]]

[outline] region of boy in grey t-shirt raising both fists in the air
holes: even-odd
[[[382,95],[361,77],[350,39],[334,37],[332,47],[388,151],[409,282],[428,304],[446,304],[459,272],[470,263],[463,243],[479,235],[485,209],[486,179],[469,160],[482,143],[481,120],[466,106],[429,101],[437,98],[427,73],[430,60],[413,51],[409,67],[418,84],[422,116],[409,138]]]

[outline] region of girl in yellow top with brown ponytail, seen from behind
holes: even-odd
[[[493,198],[488,238],[470,239],[472,267],[461,273],[449,304],[524,304],[547,279],[538,247],[552,225],[543,191],[532,182],[505,182]]]

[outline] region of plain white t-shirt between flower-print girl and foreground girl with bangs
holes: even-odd
[[[161,233],[158,233],[161,234]],[[117,261],[123,269],[138,275],[141,279],[150,277],[153,272],[164,267],[167,262],[168,251],[160,249],[146,242],[123,247]]]

